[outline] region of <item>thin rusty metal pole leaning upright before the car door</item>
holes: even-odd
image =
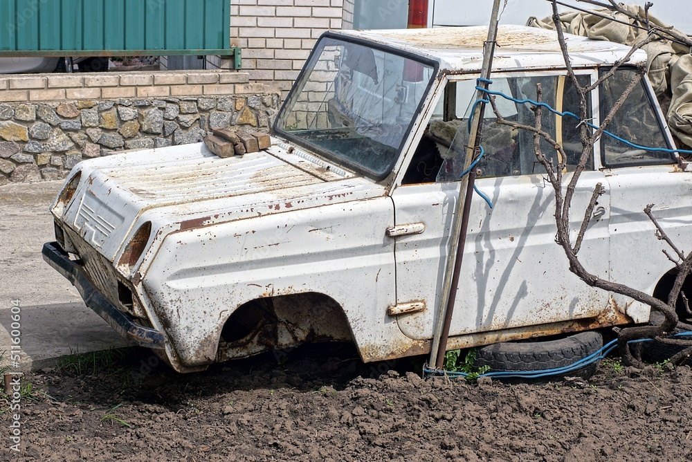
[[[480,72],[480,77],[489,79],[491,68],[493,67],[493,53],[495,53],[495,40],[498,37],[498,17],[500,15],[500,3],[502,0],[494,0],[493,12],[488,26],[488,39],[483,46],[483,64]],[[488,84],[482,82],[480,84],[487,89]],[[482,100],[485,98],[485,93],[477,91],[476,98]],[[480,141],[479,131],[482,126],[485,104],[478,104],[473,113],[473,122],[471,124],[471,133],[468,136],[468,146],[466,147],[466,158],[464,159],[464,170],[468,169],[473,160],[474,154],[478,148]],[[468,229],[468,210],[471,207],[471,194],[473,194],[473,180],[475,174],[471,172],[468,176],[462,178],[459,185],[459,197],[457,198],[457,207],[453,217],[453,233],[447,258],[447,268],[444,273],[444,285],[442,286],[442,299],[439,309],[437,310],[437,319],[435,322],[435,332],[432,335],[432,345],[430,347],[430,364],[433,367],[442,367],[444,353],[447,347],[447,338],[449,335],[449,327],[454,311],[454,301],[457,292],[459,271],[462,266],[464,254],[464,243],[466,242],[466,230]],[[462,229],[463,228],[463,229]],[[457,253],[459,255],[457,255]],[[456,276],[455,276],[456,275]],[[456,279],[456,280],[455,280]],[[444,342],[443,342],[444,340]]]

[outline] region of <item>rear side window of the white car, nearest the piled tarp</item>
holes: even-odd
[[[613,77],[601,84],[601,119],[610,112],[635,77],[636,72],[631,68],[619,69]],[[606,130],[641,147],[662,149],[670,147],[664,136],[661,121],[654,110],[653,97],[644,86],[644,81],[635,86]],[[605,134],[601,137],[601,151],[603,165],[606,167],[661,165],[675,162],[673,154],[669,152],[639,149]]]

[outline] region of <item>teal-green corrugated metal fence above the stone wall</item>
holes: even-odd
[[[230,0],[0,0],[0,56],[230,55]]]

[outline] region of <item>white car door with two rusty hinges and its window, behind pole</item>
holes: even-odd
[[[495,76],[491,88],[515,97],[536,98],[537,83],[543,86],[546,102],[552,92],[549,104],[558,109],[570,99],[563,75]],[[405,335],[417,340],[432,337],[433,320],[441,303],[452,215],[457,209],[460,182],[453,181],[458,170],[454,164],[461,161],[450,158],[453,149],[446,146],[464,145],[463,139],[451,138],[463,136],[467,118],[453,120],[450,115],[464,113],[459,109],[471,99],[475,81],[459,82],[452,90],[454,84],[447,85],[446,95],[456,93],[457,101],[440,105],[443,109],[436,112],[441,118],[432,117],[401,185],[392,192],[400,233],[394,237],[397,305],[402,311],[417,310],[399,315],[397,321]],[[574,95],[569,102],[574,103]],[[508,120],[530,122],[532,113],[527,107],[504,100],[498,101],[498,108]],[[562,248],[555,243],[554,192],[535,161],[531,133],[512,131],[494,120],[492,113],[486,113],[482,144],[487,158],[479,164],[481,174],[476,183],[493,207],[474,194],[450,336],[598,315],[608,305],[608,293],[591,288],[573,275]],[[570,128],[564,120],[548,114],[543,115],[543,125],[556,133],[556,139],[568,151],[566,183],[572,175],[571,163],[576,163],[575,156],[581,149],[576,123]],[[462,129],[452,133],[459,126]],[[441,139],[444,136],[447,140]],[[447,156],[441,166],[435,156],[425,153],[433,145]],[[547,156],[555,156],[556,151],[547,143],[542,146]],[[439,174],[433,182],[429,171],[435,169]],[[597,183],[605,187],[605,194],[599,198],[597,216],[591,220],[579,256],[586,268],[606,275],[610,193],[604,174],[594,169],[593,162],[577,184],[571,228],[576,237]]]

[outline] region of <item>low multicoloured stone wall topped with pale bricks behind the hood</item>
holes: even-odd
[[[0,185],[56,180],[80,160],[199,142],[215,128],[267,131],[276,86],[247,73],[179,71],[0,78]]]

